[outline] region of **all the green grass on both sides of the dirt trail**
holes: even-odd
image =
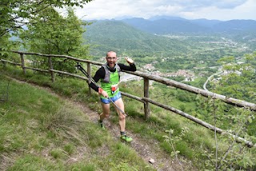
[[[56,77],[56,81],[52,83],[49,75],[28,72],[24,76],[20,70],[16,70],[16,67],[7,67],[2,72],[13,78],[50,87],[55,93],[70,97],[73,101],[80,101],[89,106],[90,109],[94,109],[98,113],[101,112],[97,93],[89,95],[88,85],[85,81],[75,78]],[[6,80],[8,78],[2,76],[2,79]],[[0,129],[0,136],[4,137],[3,139],[0,138],[0,153],[8,152],[13,155],[19,149],[23,149],[23,153],[24,151],[31,150],[36,153],[47,152],[48,157],[58,162],[58,166],[54,166],[54,169],[56,167],[57,169],[58,167],[60,169],[64,167],[65,169],[74,170],[129,170],[128,168],[132,170],[135,170],[135,168],[140,168],[138,170],[150,170],[148,165],[139,164],[141,159],[136,156],[133,149],[113,142],[107,131],[102,132],[95,127],[94,124],[90,123],[83,116],[82,111],[74,109],[74,106],[66,104],[62,99],[49,94],[43,89],[15,82],[12,82],[11,86],[14,88],[12,89],[14,92],[11,94],[15,97],[10,97],[10,101],[4,103],[2,108],[0,108],[1,123],[3,123],[1,125],[3,129]],[[122,82],[121,86],[122,91],[142,97],[142,82]],[[130,89],[130,87],[133,87],[133,89]],[[175,93],[176,89],[166,89],[165,87],[163,87],[162,91],[157,91],[158,89],[154,87],[151,87],[151,89],[153,90],[150,90],[150,97],[158,97],[158,102],[162,101],[164,104],[171,104],[177,109],[182,107],[181,105],[185,105],[186,109],[190,110],[195,107],[193,101],[188,103],[178,101],[178,98],[174,97],[177,95]],[[20,92],[23,95],[20,95]],[[30,100],[24,101],[24,93]],[[170,101],[168,101],[169,97]],[[204,161],[208,160],[208,157],[204,154],[206,151],[207,153],[214,151],[214,132],[178,114],[171,113],[154,105],[150,105],[150,118],[145,121],[143,104],[128,97],[123,97],[123,99],[126,105],[126,113],[129,115],[126,119],[126,129],[133,133],[138,133],[142,141],[149,143],[157,141],[162,149],[160,153],[170,154],[173,152],[173,149],[163,137],[168,135],[166,130],[174,129],[173,137],[177,137],[181,133],[182,128],[186,127],[189,130],[188,133],[185,133],[182,139],[174,142],[175,150],[180,152],[178,157],[181,157],[186,163],[195,163],[194,165],[197,165],[199,169],[206,167]],[[113,110],[113,108],[111,109]],[[110,120],[113,124],[118,124],[117,117],[110,117]],[[6,122],[12,126],[7,125]],[[29,136],[25,136],[27,134]],[[95,135],[97,136],[95,137]],[[26,138],[22,139],[22,137]],[[102,138],[98,139],[97,137]],[[218,137],[221,138],[219,135]],[[220,141],[220,139],[218,140],[219,150],[224,152],[226,150],[224,145],[226,144]],[[101,149],[106,141],[108,142],[108,150],[110,152],[106,155],[95,153],[95,150]],[[70,156],[77,155],[81,146],[86,146],[90,153],[84,154],[85,156],[82,157],[82,160],[66,166],[64,161],[67,161]],[[250,149],[250,153],[254,153],[254,150]],[[18,157],[15,156],[15,158]],[[42,157],[42,155],[37,155],[37,157]],[[251,159],[256,161],[254,155]],[[31,160],[35,159],[31,157]],[[84,160],[88,162],[84,162]],[[47,165],[46,167],[52,167],[51,163]]]

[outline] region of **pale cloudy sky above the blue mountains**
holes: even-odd
[[[154,16],[256,20],[256,0],[93,0],[75,11],[83,20]]]

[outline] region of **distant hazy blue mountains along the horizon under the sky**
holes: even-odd
[[[241,33],[255,32],[256,21],[254,20],[207,20],[174,17],[155,17],[150,19],[128,18],[122,19],[130,26],[151,34],[214,34],[214,33]]]

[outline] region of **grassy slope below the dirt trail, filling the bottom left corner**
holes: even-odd
[[[9,78],[0,74],[0,80],[4,92]],[[1,170],[128,168],[152,170],[81,109],[44,89],[10,80],[9,100],[0,104]]]

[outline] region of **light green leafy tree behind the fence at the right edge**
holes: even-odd
[[[219,62],[223,62],[223,70],[226,75],[222,75],[220,82],[213,87],[217,93],[232,96],[234,98],[251,101],[255,103],[255,66],[256,53],[246,54],[244,56],[246,62],[238,64],[234,57],[221,58]]]

